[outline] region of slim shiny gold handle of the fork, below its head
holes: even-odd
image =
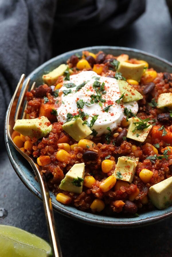
[[[46,216],[46,223],[47,223],[47,228],[49,233],[50,244],[52,246],[53,257],[62,257],[60,242],[56,233],[56,226],[54,221],[51,198],[50,198],[46,179],[44,177],[44,174],[41,175],[38,167],[35,164],[32,165],[32,168],[36,174],[36,177],[38,179],[38,182],[41,188],[42,200],[44,203],[44,212]]]

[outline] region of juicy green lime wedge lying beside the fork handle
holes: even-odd
[[[51,247],[42,238],[17,227],[0,225],[1,257],[48,257]]]

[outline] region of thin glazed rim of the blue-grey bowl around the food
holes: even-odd
[[[116,51],[121,51],[121,52],[128,52],[130,55],[130,52],[133,54],[142,54],[147,57],[150,57],[152,59],[158,60],[159,62],[162,62],[163,64],[171,67],[171,72],[172,72],[172,63],[169,61],[157,57],[156,55],[147,53],[142,50],[138,50],[135,48],[127,48],[127,47],[118,47],[118,46],[92,46],[92,47],[84,47],[84,48],[79,48],[75,50],[71,50],[68,52],[65,52],[63,54],[60,54],[39,67],[37,67],[34,71],[32,71],[25,79],[24,84],[26,83],[27,79],[29,77],[34,77],[39,71],[43,70],[45,67],[48,65],[59,61],[60,59],[66,58],[67,56],[70,56],[72,54],[75,54],[77,52],[82,52],[83,50],[88,50],[88,51],[93,51],[93,50],[116,50]],[[67,61],[67,59],[66,59]],[[7,113],[9,111],[9,107],[7,108]],[[7,113],[5,117],[5,125],[7,121]],[[6,126],[5,126],[6,127]],[[34,179],[34,174],[31,173],[31,167],[27,163],[27,161],[19,155],[19,153],[13,148],[11,143],[9,142],[7,138],[7,132],[5,129],[5,145],[7,149],[7,154],[9,157],[9,160],[11,162],[11,165],[13,166],[13,169],[15,170],[16,174],[20,178],[20,180],[24,183],[24,185],[34,194],[36,195],[40,200],[42,200],[41,197],[41,192],[40,192],[40,187],[38,182]],[[23,171],[25,170],[25,171]],[[111,216],[103,216],[103,215],[97,215],[97,214],[92,214],[92,213],[87,213],[80,211],[76,209],[75,207],[63,205],[59,202],[56,201],[56,197],[52,192],[50,192],[50,197],[52,198],[52,206],[55,211],[58,213],[61,213],[62,215],[65,215],[67,217],[70,217],[72,219],[75,219],[77,221],[81,221],[83,223],[87,223],[90,225],[96,225],[99,227],[109,227],[109,228],[129,228],[129,227],[140,227],[140,226],[145,226],[149,224],[153,224],[156,222],[159,222],[161,220],[164,220],[172,215],[172,206],[165,209],[165,210],[154,210],[150,212],[146,212],[143,214],[140,214],[140,216],[133,216],[133,217],[111,217]]]

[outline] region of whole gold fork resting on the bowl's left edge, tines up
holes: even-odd
[[[35,164],[34,160],[26,155],[23,151],[21,151],[13,142],[11,138],[11,134],[13,132],[13,126],[15,124],[15,121],[17,119],[21,119],[24,116],[24,110],[26,108],[26,92],[28,91],[30,79],[26,82],[24,88],[22,88],[23,82],[25,79],[25,75],[21,75],[21,78],[18,82],[18,85],[15,89],[14,95],[11,99],[10,105],[9,105],[9,111],[7,114],[7,122],[6,122],[6,132],[7,137],[13,147],[30,163],[32,166],[32,169],[34,170],[36,177],[38,179],[38,182],[40,184],[41,193],[42,193],[42,201],[44,203],[44,212],[46,216],[46,222],[48,227],[48,233],[49,233],[49,239],[50,244],[52,247],[52,253],[54,257],[62,257],[62,252],[60,248],[60,242],[58,240],[58,236],[56,234],[55,229],[55,222],[54,222],[54,216],[53,216],[53,210],[52,210],[52,203],[51,198],[48,190],[48,186],[46,183],[46,179],[43,174],[40,173],[40,170],[38,166]],[[33,88],[35,83],[32,84]],[[23,106],[23,107],[22,107]]]

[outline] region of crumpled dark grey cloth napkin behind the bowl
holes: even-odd
[[[144,10],[145,0],[1,0],[0,143],[5,112],[22,73],[68,50],[109,45]]]

